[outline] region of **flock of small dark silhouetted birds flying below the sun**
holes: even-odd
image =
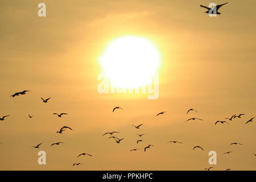
[[[30,92],[30,90],[23,90],[23,92],[14,93],[14,94],[11,95],[10,97],[16,97],[16,96],[19,96],[19,95],[24,95],[24,94],[26,94],[27,92]],[[47,103],[50,98],[51,98],[51,97],[49,97],[49,98],[47,98],[46,100],[44,100],[44,98],[41,97],[41,99],[43,100],[44,103]],[[117,109],[122,109],[122,107],[119,107],[119,106],[114,107],[113,113],[114,113],[114,111],[117,110]],[[187,111],[187,114],[188,114],[189,112],[192,112],[192,111],[195,111],[195,112],[197,113],[197,110],[195,110],[195,109],[189,109],[189,110]],[[162,112],[156,114],[155,117],[158,117],[159,115],[163,115],[164,113],[166,113],[166,111],[162,111]],[[57,117],[60,117],[60,118],[61,118],[63,115],[67,115],[67,113],[60,113],[60,114],[53,113],[53,114],[54,114],[54,115],[57,115]],[[227,120],[229,120],[229,121],[233,121],[234,118],[241,118],[242,115],[245,115],[245,114],[238,114],[238,115],[237,115],[237,114],[234,114],[234,115],[232,115],[232,117],[230,117],[230,118],[224,118],[224,119],[227,119]],[[10,117],[10,115],[4,115],[3,117],[0,117],[0,120],[1,120],[1,121],[4,121],[6,117]],[[34,117],[34,116],[28,114],[28,117],[29,117],[29,118],[32,118],[32,117]],[[253,119],[254,119],[254,117],[251,118],[251,119],[249,119],[248,121],[246,121],[246,122],[245,122],[245,125],[246,125],[247,123],[249,123],[249,122],[253,122]],[[189,119],[187,119],[187,121],[185,121],[185,122],[195,121],[195,120],[204,121],[203,119],[200,119],[200,118],[189,118]],[[216,122],[214,123],[214,125],[216,125],[217,123],[222,123],[222,124],[223,124],[223,123],[227,123],[228,125],[230,125],[230,124],[228,123],[228,121],[216,121]],[[144,125],[144,123],[142,123],[142,124],[140,124],[140,125],[138,125],[138,126],[135,126],[135,125],[132,125],[132,126],[133,126],[135,129],[140,129],[142,125]],[[72,129],[71,129],[71,127],[69,127],[69,126],[63,126],[63,127],[61,127],[61,129],[60,129],[59,131],[56,131],[56,133],[62,134],[63,131],[66,131],[66,130],[72,130]],[[113,139],[114,139],[114,142],[119,144],[119,143],[121,143],[121,141],[122,141],[124,138],[118,138],[118,137],[113,136],[113,134],[118,134],[118,133],[119,133],[118,131],[112,131],[112,132],[104,133],[104,134],[102,134],[102,136],[104,136],[104,135],[110,135],[110,137],[109,137],[108,139],[113,138]],[[137,134],[137,135],[138,135],[139,137],[143,137],[143,135],[145,135],[145,134]],[[138,140],[137,140],[137,144],[138,144],[139,142],[143,142],[143,141],[144,141],[143,139],[138,139]],[[0,142],[0,143],[1,143],[1,142]],[[59,145],[59,144],[61,144],[61,143],[64,143],[64,142],[52,143],[51,146]],[[172,141],[167,142],[167,143],[179,143],[179,144],[182,144],[182,142],[175,141],[175,140],[172,140]],[[31,147],[39,148],[42,144],[43,144],[43,143],[39,143],[38,145],[36,145],[36,146],[31,146]],[[230,143],[229,145],[237,145],[237,144],[238,144],[238,145],[242,145],[241,143],[238,143],[238,142],[233,142],[233,143]],[[145,146],[145,147],[144,147],[144,152],[146,152],[146,150],[149,149],[150,147],[154,147],[154,145],[148,144],[147,146]],[[195,150],[196,148],[199,148],[200,150],[203,150],[203,151],[204,151],[204,148],[201,147],[201,146],[195,146],[195,147],[192,148],[192,150]],[[137,151],[137,150],[141,150],[141,148],[133,148],[133,149],[131,149],[130,151]],[[233,152],[233,151],[228,151],[228,152],[225,152],[224,154],[230,154],[231,152]],[[253,154],[254,156],[256,156],[256,154],[254,154],[254,153],[252,153],[252,154]],[[92,155],[87,154],[87,153],[82,153],[82,154],[79,154],[79,155],[77,156],[77,158],[79,158],[81,155],[92,156]],[[79,166],[79,165],[81,165],[81,164],[82,164],[82,163],[74,163],[73,166]],[[209,171],[211,168],[213,168],[213,167],[205,168],[205,170],[208,170],[208,171]],[[231,169],[226,169],[226,171],[230,171],[230,170],[231,170]]]

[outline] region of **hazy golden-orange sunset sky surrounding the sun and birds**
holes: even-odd
[[[256,170],[256,118],[245,125],[256,117],[256,1],[44,0],[39,17],[40,2],[0,2],[0,117],[10,114],[0,121],[0,170]],[[210,17],[200,5],[211,2],[229,3]],[[158,50],[158,99],[98,93],[100,57],[125,36]],[[31,92],[10,97],[23,90]],[[113,113],[115,106],[123,110]],[[190,108],[198,113],[186,114]],[[160,111],[167,112],[155,117]],[[241,113],[230,126],[214,125]],[[192,117],[204,121],[185,123]],[[73,130],[57,134],[62,126]],[[125,139],[102,136],[110,131]],[[38,164],[40,150],[46,165]],[[93,156],[77,158],[82,152]]]

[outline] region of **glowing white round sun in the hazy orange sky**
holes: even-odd
[[[159,65],[159,52],[147,39],[125,36],[109,43],[101,64],[116,87],[135,88],[151,82]]]

